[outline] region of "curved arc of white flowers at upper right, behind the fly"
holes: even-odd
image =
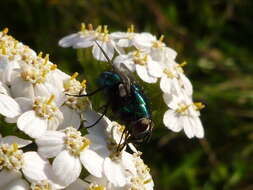
[[[59,41],[62,47],[92,47],[95,59],[107,61],[99,44],[109,59],[118,68],[127,68],[146,83],[156,83],[160,79],[160,88],[168,111],[163,117],[164,125],[174,132],[184,130],[188,138],[204,137],[199,119],[199,110],[204,107],[193,102],[193,88],[185,76],[183,66],[175,61],[177,53],[163,43],[164,36],[157,39],[150,33],[135,33],[134,27],[127,32],[109,33],[107,26],[82,24],[81,31],[68,35]],[[115,56],[115,51],[117,55]]]

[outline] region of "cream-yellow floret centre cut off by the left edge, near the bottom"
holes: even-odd
[[[18,171],[24,164],[23,151],[18,149],[16,143],[0,145],[0,170],[4,167]]]

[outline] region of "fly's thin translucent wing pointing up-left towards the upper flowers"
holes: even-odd
[[[105,53],[104,49],[100,46],[100,44],[95,41],[95,43],[97,44],[97,46],[99,47],[99,49],[102,51],[103,55],[105,56],[105,58],[107,59],[108,63],[110,63],[112,65],[113,71],[118,73],[122,80],[123,80],[123,84],[127,90],[127,94],[131,93],[131,77],[128,76],[128,74],[130,74],[130,71],[128,70],[128,68],[126,66],[120,66],[120,68],[117,68],[112,61],[110,60],[110,58],[107,56],[107,54]],[[127,74],[126,74],[127,73]]]

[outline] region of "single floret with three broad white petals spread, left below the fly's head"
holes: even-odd
[[[82,165],[94,176],[102,176],[103,158],[90,146],[92,139],[82,136],[75,128],[47,131],[36,139],[36,143],[41,155],[56,157],[53,170],[63,185],[69,185],[79,177]]]

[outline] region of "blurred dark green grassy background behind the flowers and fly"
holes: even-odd
[[[100,72],[90,51],[58,47],[80,23],[110,31],[165,35],[186,60],[194,99],[202,110],[206,138],[187,139],[162,124],[166,106],[158,85],[145,85],[155,120],[152,140],[140,149],[157,190],[253,189],[253,1],[250,0],[1,0],[0,28],[35,51],[50,54],[59,68],[80,73],[89,89]],[[101,103],[94,97],[95,108]]]

